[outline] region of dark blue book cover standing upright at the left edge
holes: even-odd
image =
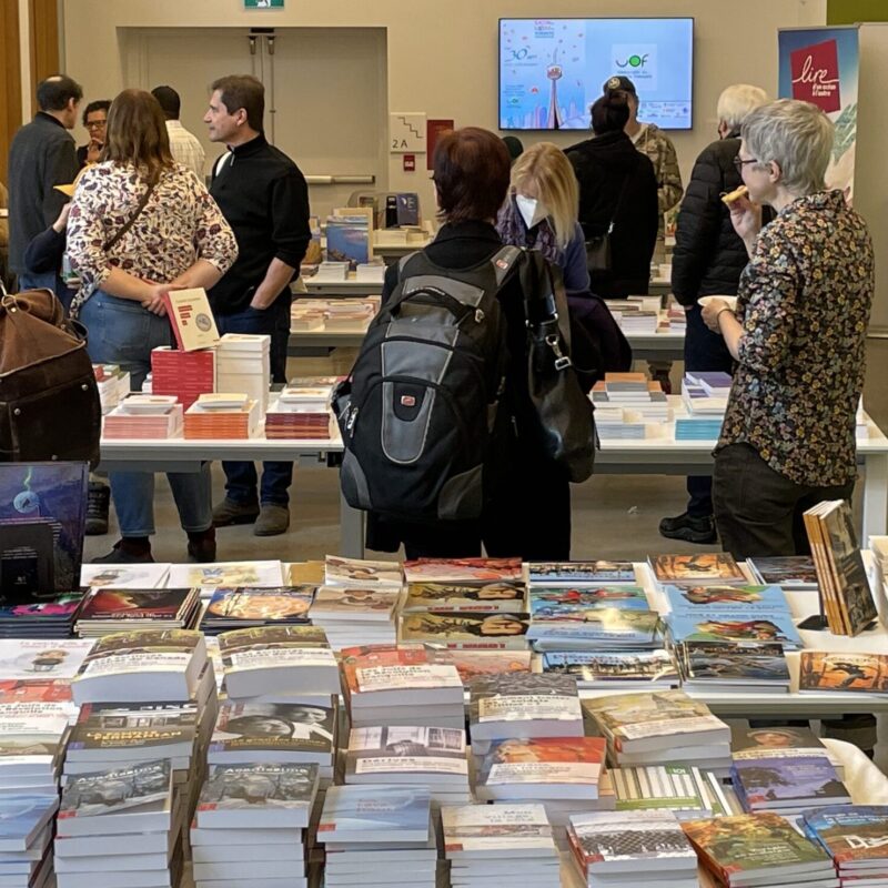
[[[0,463],[0,526],[42,525],[52,531],[54,585],[42,591],[48,597],[78,588],[88,482],[85,463]]]

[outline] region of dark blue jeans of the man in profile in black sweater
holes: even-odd
[[[285,289],[270,307],[246,307],[234,314],[216,314],[220,334],[251,333],[271,336],[269,363],[271,379],[275,383],[286,382],[286,344],[290,339],[290,289]],[[225,495],[242,505],[256,502],[259,475],[254,463],[223,462]],[[262,484],[259,501],[263,504],[285,506],[290,502],[287,488],[293,483],[293,463],[262,463]]]

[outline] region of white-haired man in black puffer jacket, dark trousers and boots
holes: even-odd
[[[687,314],[685,370],[688,371],[733,371],[734,362],[725,341],[703,323],[697,300],[737,295],[740,272],[749,261],[722,195],[743,184],[735,165],[740,150],[740,124],[750,111],[767,101],[764,90],[746,83],[728,87],[718,97],[718,141],[708,144],[697,158],[678,212],[672,283],[673,293]],[[687,492],[687,509],[664,518],[660,534],[688,543],[715,543],[712,477],[688,477]]]

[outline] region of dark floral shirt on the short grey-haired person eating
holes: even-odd
[[[744,335],[716,453],[748,443],[801,485],[856,476],[874,289],[872,242],[840,191],[799,198],[761,230],[740,276]]]

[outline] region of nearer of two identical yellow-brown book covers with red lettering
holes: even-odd
[[[401,617],[402,642],[456,647],[526,647],[527,614],[414,613]]]

